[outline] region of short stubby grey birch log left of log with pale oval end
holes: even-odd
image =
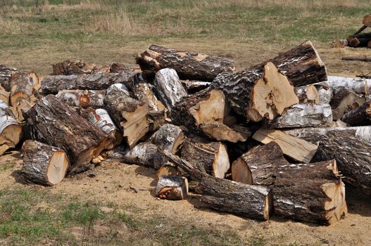
[[[175,154],[184,141],[184,134],[180,127],[164,124],[149,138],[149,141],[161,150],[166,149]]]

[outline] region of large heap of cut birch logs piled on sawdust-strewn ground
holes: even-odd
[[[25,176],[48,186],[106,159],[144,165],[158,198],[191,190],[260,220],[334,224],[346,186],[371,195],[367,80],[327,76],[310,41],[238,71],[154,45],[137,64],[64,61],[44,78],[0,66],[1,153],[23,143]]]

